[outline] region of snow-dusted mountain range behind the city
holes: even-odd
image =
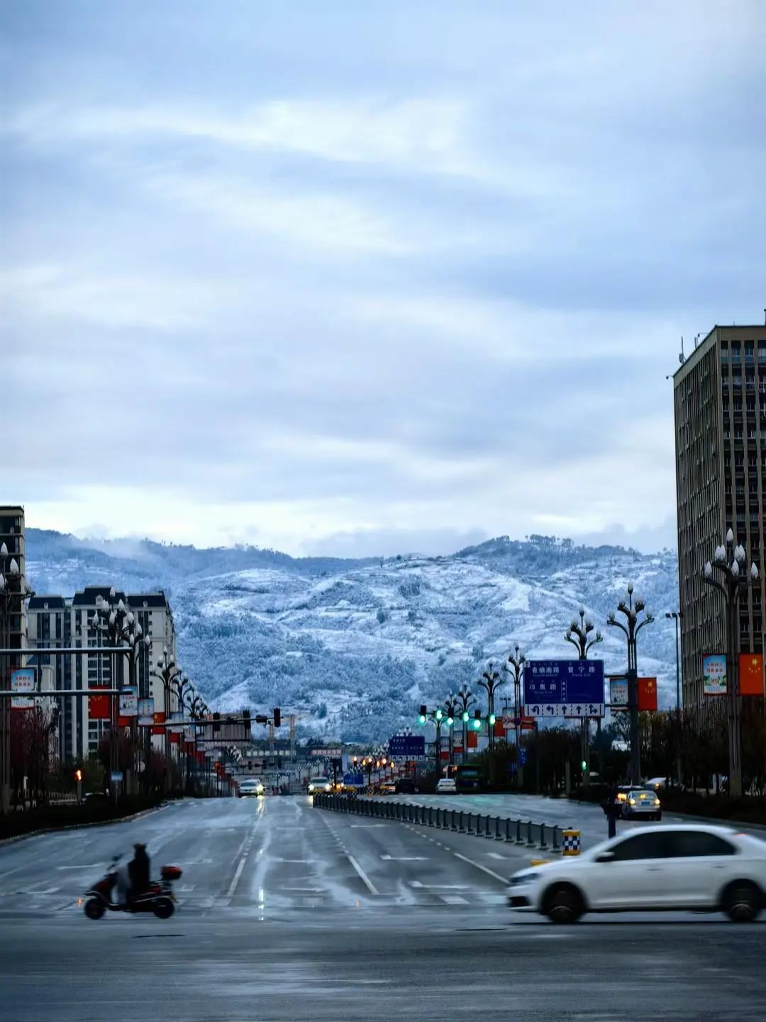
[[[445,557],[294,559],[31,528],[27,572],[38,593],[99,583],[164,589],[179,659],[208,702],[281,706],[315,735],[385,738],[413,725],[421,702],[475,682],[515,643],[532,657],[574,654],[563,634],[580,606],[604,633],[591,655],[608,672],[624,669],[623,636],[606,617],[629,580],[657,616],[640,635],[639,669],[658,677],[661,703],[675,691],[675,634],[664,615],[677,600],[670,551],[647,556],[538,536]]]

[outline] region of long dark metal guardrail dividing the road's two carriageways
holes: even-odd
[[[420,802],[392,802],[384,798],[366,796],[348,798],[345,795],[314,795],[313,804],[318,809],[334,812],[350,812],[378,820],[394,820],[419,827],[434,827],[453,831],[456,834],[471,834],[474,837],[504,841],[508,844],[525,845],[548,854],[562,853],[562,831],[566,827],[557,824],[536,824],[531,820],[504,816],[482,816],[465,809],[442,808],[422,805]]]

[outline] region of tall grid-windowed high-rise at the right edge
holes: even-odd
[[[723,597],[703,583],[730,528],[760,571],[739,604],[739,648],[764,647],[766,326],[716,326],[673,377],[683,704],[703,703],[702,658],[725,652]]]

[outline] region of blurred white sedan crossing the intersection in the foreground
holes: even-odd
[[[647,827],[581,855],[521,870],[508,903],[555,923],[586,912],[725,912],[751,922],[764,907],[766,842],[728,827]]]

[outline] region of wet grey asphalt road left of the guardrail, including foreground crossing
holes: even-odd
[[[115,851],[174,862],[166,922],[79,900]],[[0,847],[0,1020],[759,1019],[766,924],[512,916],[529,852],[302,797],[171,805]]]

